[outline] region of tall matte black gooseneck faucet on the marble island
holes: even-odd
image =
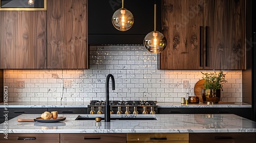
[[[109,74],[108,76],[106,76],[106,103],[105,103],[105,114],[104,114],[104,118],[105,118],[105,122],[110,122],[110,78],[112,81],[112,90],[115,90],[115,79],[114,76]]]

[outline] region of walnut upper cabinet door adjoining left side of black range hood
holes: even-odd
[[[87,0],[47,2],[47,68],[88,68]]]

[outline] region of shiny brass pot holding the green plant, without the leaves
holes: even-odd
[[[221,89],[202,89],[203,103],[219,103],[221,99]]]

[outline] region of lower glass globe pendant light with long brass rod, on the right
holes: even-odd
[[[143,44],[146,48],[146,50],[148,52],[151,52],[151,53],[161,53],[165,47],[166,47],[166,44],[167,44],[167,41],[166,41],[166,38],[164,37],[164,35],[161,33],[161,32],[158,32],[156,30],[156,16],[157,15],[157,4],[156,4],[156,0],[155,0],[155,29],[154,31],[148,33],[145,38],[144,38],[144,41],[143,41]]]

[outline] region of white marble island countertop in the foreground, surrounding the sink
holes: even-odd
[[[95,122],[95,120],[77,121],[75,119],[78,114],[59,114],[59,116],[66,116],[66,120],[57,123],[16,121],[17,118],[39,116],[40,114],[22,114],[12,118],[7,122],[8,124],[0,124],[0,133],[6,131],[8,133],[256,132],[256,122],[234,114],[156,114],[157,120],[115,120],[109,123]]]

